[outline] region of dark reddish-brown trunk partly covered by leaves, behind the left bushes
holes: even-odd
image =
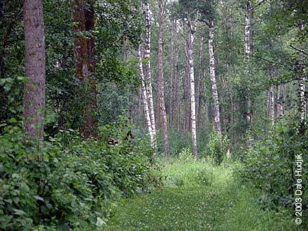
[[[74,62],[79,87],[81,104],[81,117],[83,123],[79,127],[79,133],[85,139],[95,135],[94,110],[96,108],[95,84],[94,84],[94,36],[86,39],[79,33],[94,30],[94,6],[91,1],[89,9],[85,10],[83,0],[72,2],[73,12],[73,44]]]

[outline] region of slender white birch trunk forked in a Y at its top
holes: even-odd
[[[196,13],[196,19],[194,25],[190,16],[188,17],[189,39],[188,39],[188,59],[190,67],[190,109],[191,109],[191,126],[192,126],[192,154],[197,157],[197,143],[196,143],[196,101],[194,96],[194,33],[196,32],[196,23],[198,20],[198,12]]]

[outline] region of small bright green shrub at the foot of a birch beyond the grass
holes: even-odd
[[[221,133],[212,131],[209,134],[207,153],[214,159],[216,165],[220,165],[226,157],[229,140],[227,136],[222,137]]]

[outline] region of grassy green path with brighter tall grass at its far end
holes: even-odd
[[[164,165],[160,171],[168,176],[164,187],[125,200],[104,231],[303,230],[287,210],[261,209],[255,203],[257,191],[234,180],[232,165],[211,167],[202,161],[188,162]],[[200,174],[205,178],[198,178]]]

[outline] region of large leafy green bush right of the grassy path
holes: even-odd
[[[296,154],[303,157],[303,192],[307,189],[307,131],[281,119],[263,141],[256,142],[244,156],[244,167],[238,171],[242,181],[251,181],[263,194],[259,204],[277,208],[292,207],[296,191]],[[307,207],[307,193],[303,193],[303,208]]]

